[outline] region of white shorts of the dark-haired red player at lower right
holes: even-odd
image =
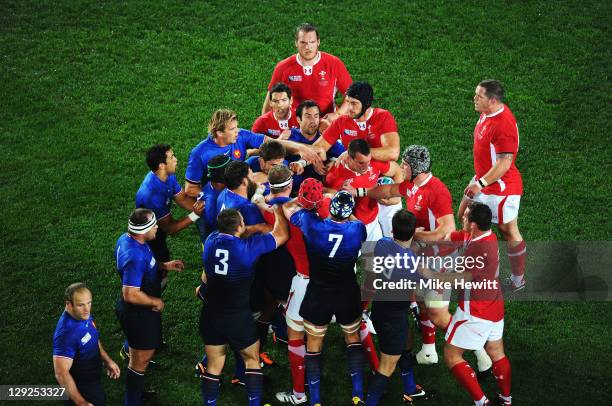
[[[448,329],[446,342],[464,350],[479,350],[487,341],[497,341],[504,334],[504,319],[500,321],[484,320],[466,314],[460,307],[453,314]]]

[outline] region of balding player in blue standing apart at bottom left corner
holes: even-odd
[[[53,369],[60,386],[70,397],[67,405],[106,405],[102,388],[102,363],[112,379],[119,366],[108,356],[99,340],[91,315],[91,292],[84,283],[73,283],[64,293],[66,308],[53,334]]]

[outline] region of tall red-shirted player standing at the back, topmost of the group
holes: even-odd
[[[330,121],[337,114],[344,114],[344,105],[336,110],[336,94],[346,92],[352,82],[344,63],[328,53],[319,51],[321,41],[317,28],[312,24],[300,24],[295,30],[295,47],[298,53],[279,62],[274,68],[268,85],[268,93],[261,114],[270,110],[270,91],[278,83],[286,83],[293,93],[295,109],[304,100],[314,100],[322,114]]]

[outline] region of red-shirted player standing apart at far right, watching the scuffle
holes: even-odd
[[[465,188],[459,218],[470,200],[491,209],[493,223],[508,245],[512,275],[504,288],[518,291],[525,287],[527,247],[518,229],[518,212],[523,179],[516,167],[519,132],[514,114],[504,104],[504,88],[497,80],[483,80],[476,87],[474,109],[480,118],[474,128],[474,171]]]

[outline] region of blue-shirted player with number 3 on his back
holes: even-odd
[[[249,406],[261,404],[263,374],[250,292],[257,259],[289,238],[287,220],[281,209],[276,207],[274,213],[276,218],[270,233],[242,239],[246,225],[240,211],[222,210],[217,216],[218,230],[204,244],[202,259],[207,288],[200,314],[200,334],[208,358],[202,379],[206,405],[217,404],[227,344],[240,352],[246,364],[244,379]]]

